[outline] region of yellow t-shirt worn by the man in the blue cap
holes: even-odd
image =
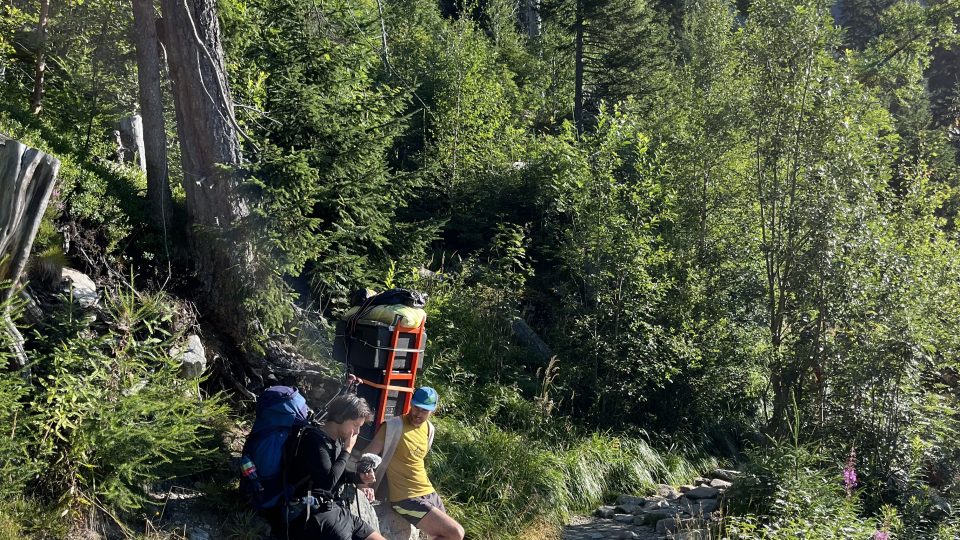
[[[386,429],[377,431],[374,440],[384,441]],[[427,478],[427,469],[423,460],[427,456],[430,439],[427,423],[413,427],[406,416],[403,417],[403,435],[393,452],[393,458],[387,465],[387,484],[390,486],[390,502],[402,501],[433,493],[433,484]]]

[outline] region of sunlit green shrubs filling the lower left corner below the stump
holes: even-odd
[[[163,294],[109,290],[97,322],[72,304],[28,342],[34,380],[0,374],[0,536],[63,536],[72,518],[122,516],[144,485],[209,467],[225,424],[171,358]],[[2,308],[3,306],[0,306]],[[0,332],[0,362],[9,362]],[[45,532],[44,532],[45,531]]]

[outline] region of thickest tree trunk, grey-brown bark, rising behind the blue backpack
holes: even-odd
[[[252,245],[238,226],[249,214],[241,194],[240,143],[227,86],[214,0],[162,0],[164,46],[173,81],[190,220],[190,248],[208,312],[242,343],[251,322]]]

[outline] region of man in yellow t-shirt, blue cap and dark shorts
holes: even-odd
[[[386,484],[390,506],[414,527],[437,540],[463,540],[463,527],[447,515],[424,464],[434,433],[428,419],[438,402],[433,388],[417,389],[410,412],[384,422],[365,451],[383,455],[376,470],[379,498]]]

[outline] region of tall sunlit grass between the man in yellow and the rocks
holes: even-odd
[[[714,466],[606,434],[538,439],[489,421],[441,419],[430,477],[470,538],[514,538],[530,527],[556,532],[570,514],[619,493],[677,484]]]

